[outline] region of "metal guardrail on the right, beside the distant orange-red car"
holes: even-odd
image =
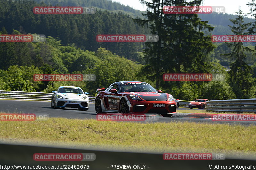
[[[210,100],[206,106],[206,111],[256,112],[256,99]]]

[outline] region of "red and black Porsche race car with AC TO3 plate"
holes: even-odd
[[[163,117],[176,114],[172,95],[154,89],[150,84],[137,81],[120,81],[107,89],[97,89],[96,113],[156,113]]]

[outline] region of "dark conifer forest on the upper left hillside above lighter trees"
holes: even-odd
[[[69,1],[73,2],[73,1]],[[95,1],[93,1],[95,2]],[[18,30],[22,34],[36,33],[60,39],[65,46],[96,51],[106,48],[120,56],[140,62],[142,45],[138,43],[99,43],[97,34],[148,34],[148,28],[134,23],[131,16],[122,12],[98,10],[95,14],[33,14],[33,7],[47,6],[34,1],[0,1],[0,24],[7,33]],[[12,21],[12,22],[10,22]]]

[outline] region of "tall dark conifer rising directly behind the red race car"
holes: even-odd
[[[136,19],[141,25],[149,25],[152,34],[159,36],[158,42],[146,43],[144,74],[148,79],[170,87],[170,82],[163,82],[163,73],[204,73],[208,72],[205,62],[208,53],[214,49],[209,36],[204,36],[204,29],[213,30],[207,21],[201,21],[197,14],[164,14],[164,6],[199,6],[201,0],[153,0],[147,2],[144,14],[148,20]],[[175,82],[178,83],[178,82]],[[177,85],[177,84],[176,84]]]

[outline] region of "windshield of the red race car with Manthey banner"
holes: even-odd
[[[154,89],[151,85],[145,84],[145,83],[125,83],[121,84],[121,92],[156,92],[156,89]]]

